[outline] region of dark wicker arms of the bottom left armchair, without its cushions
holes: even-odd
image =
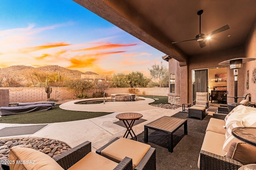
[[[67,170],[89,152],[91,152],[91,142],[86,141],[58,156],[55,156],[53,159],[64,169]],[[9,170],[8,165],[2,165],[3,170]],[[86,167],[84,167],[86,169]],[[132,170],[132,159],[125,157],[115,168],[114,170]]]

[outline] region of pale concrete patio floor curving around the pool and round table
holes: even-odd
[[[106,102],[105,104],[74,104],[76,101],[66,102],[60,105],[62,109],[76,110],[76,111],[104,111],[114,112],[101,117],[92,119],[84,119],[78,121],[48,123],[44,128],[40,129],[34,134],[20,135],[15,137],[40,137],[48,139],[56,139],[67,143],[70,147],[75,147],[84,141],[92,143],[92,151],[108,143],[115,137],[123,137],[126,128],[116,125],[114,122],[119,121],[116,115],[123,112],[136,112],[143,115],[144,121],[138,125],[133,126],[136,135],[144,131],[144,125],[162,117],[172,116],[175,113],[182,111],[182,107],[178,109],[164,109],[161,107],[150,106],[148,103],[154,102],[153,99],[145,98],[138,102]],[[106,111],[108,110],[108,111]],[[27,126],[33,124],[8,124],[0,123],[0,129],[4,127],[13,126]],[[2,139],[10,139],[14,136],[1,137]],[[128,136],[130,137],[130,135]]]

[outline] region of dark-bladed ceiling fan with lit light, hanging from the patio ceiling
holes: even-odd
[[[196,35],[196,38],[188,39],[188,40],[184,40],[184,41],[172,42],[172,44],[180,43],[180,42],[185,42],[185,41],[194,41],[194,40],[196,40],[196,41],[199,42],[200,47],[204,48],[206,46],[206,43],[204,42],[205,38],[210,37],[210,36],[212,36],[212,35],[214,35],[216,33],[220,33],[222,31],[225,31],[225,30],[229,29],[229,26],[225,25],[225,26],[220,27],[220,28],[218,28],[218,29],[212,31],[211,33],[206,34],[206,35],[201,33],[201,15],[203,14],[203,12],[204,12],[203,10],[200,10],[200,11],[197,12],[197,15],[199,15],[200,17],[199,17],[199,34]]]

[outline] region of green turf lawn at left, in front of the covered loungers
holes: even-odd
[[[88,112],[88,111],[70,111],[60,109],[60,105],[53,106],[47,111],[34,111],[30,113],[21,113],[15,115],[4,115],[0,117],[0,123],[55,123],[64,121],[75,121],[90,119],[108,115],[106,112]]]

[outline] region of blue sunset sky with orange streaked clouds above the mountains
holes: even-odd
[[[58,65],[149,77],[164,55],[72,0],[0,0],[0,68]]]

